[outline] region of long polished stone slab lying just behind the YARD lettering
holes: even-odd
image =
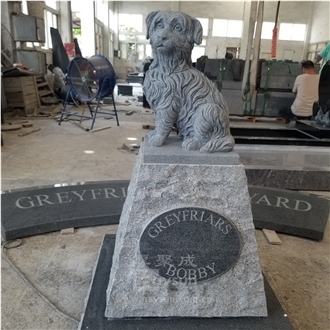
[[[235,145],[249,185],[329,191],[330,153],[325,147]]]

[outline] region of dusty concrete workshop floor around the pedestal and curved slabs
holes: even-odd
[[[124,104],[125,100],[120,101]],[[132,109],[137,113],[125,114]],[[2,190],[129,180],[136,156],[118,148],[139,145],[148,132],[142,125],[153,125],[153,116],[140,106],[118,104],[118,110],[120,127],[114,119],[98,118],[95,128],[111,128],[94,133],[69,122],[58,126],[54,119],[42,117],[29,118],[33,128],[3,132]],[[86,121],[83,124],[89,126]],[[17,136],[36,128],[41,129]],[[330,199],[329,192],[313,193]],[[116,228],[98,226],[76,229],[74,235],[37,235],[24,238],[18,248],[6,249],[5,255],[35,288],[71,318],[41,299],[2,255],[1,328],[76,329],[103,235],[115,233]],[[282,245],[268,244],[262,231],[256,230],[262,270],[296,330],[329,329],[329,229],[328,221],[321,242],[279,234]]]

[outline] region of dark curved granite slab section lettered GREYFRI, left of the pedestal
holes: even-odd
[[[1,195],[4,240],[118,223],[128,181],[18,190]]]

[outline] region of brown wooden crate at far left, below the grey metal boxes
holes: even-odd
[[[40,107],[35,76],[4,77],[3,84],[10,107],[23,108],[26,115]]]

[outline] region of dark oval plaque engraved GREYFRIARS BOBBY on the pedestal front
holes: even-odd
[[[182,207],[153,219],[140,238],[146,265],[167,279],[196,283],[222,275],[237,262],[235,225],[208,209]]]

